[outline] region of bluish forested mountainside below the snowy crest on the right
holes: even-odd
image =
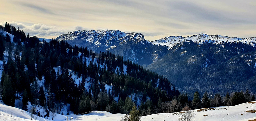
[[[203,43],[183,41],[147,69],[167,77],[180,90],[255,92],[255,45],[241,42]]]

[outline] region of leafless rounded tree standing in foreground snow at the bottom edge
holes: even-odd
[[[191,111],[191,108],[186,106],[182,109],[182,113],[180,113],[179,120],[180,121],[193,121],[195,119],[195,113]]]

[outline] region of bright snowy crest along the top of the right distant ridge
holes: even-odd
[[[249,38],[237,38],[237,37],[228,37],[228,36],[221,36],[221,35],[207,35],[207,34],[198,34],[193,35],[191,37],[182,37],[182,36],[170,36],[165,37],[159,40],[155,40],[152,43],[155,45],[166,45],[168,49],[173,47],[179,42],[191,40],[196,43],[205,43],[205,42],[212,42],[212,43],[221,43],[221,42],[242,42],[245,44],[251,44],[256,42],[256,37],[249,37]]]

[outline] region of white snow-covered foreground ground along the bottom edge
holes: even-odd
[[[256,102],[254,102],[256,103]],[[256,104],[254,103],[243,103],[236,106],[222,106],[217,108],[208,109],[196,109],[195,112],[196,121],[249,121],[256,119]],[[254,110],[254,111],[251,111]],[[246,112],[247,111],[247,112]],[[12,117],[11,117],[12,114]],[[143,116],[142,121],[178,121],[179,112],[176,113],[160,113],[148,116]],[[85,115],[68,115],[73,117],[73,121],[84,120],[84,121],[120,121],[124,114],[111,114],[106,111],[92,111]],[[65,121],[67,116],[57,114],[54,117],[55,121]],[[31,119],[29,112],[4,105],[0,101],[0,120],[1,121],[28,121]],[[51,119],[45,119],[37,117],[39,121],[51,121]],[[70,120],[70,118],[68,119]],[[70,120],[72,121],[72,120]]]

